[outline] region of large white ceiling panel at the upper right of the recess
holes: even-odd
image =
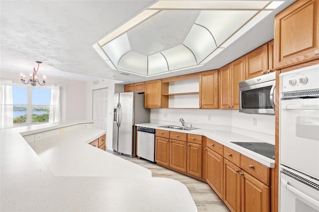
[[[205,26],[212,33],[217,46],[219,46],[256,14],[256,12],[258,11],[203,10],[198,15],[195,23]]]

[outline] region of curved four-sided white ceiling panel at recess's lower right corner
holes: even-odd
[[[216,44],[210,32],[199,25],[194,24],[183,44],[195,55],[197,63],[216,49]]]

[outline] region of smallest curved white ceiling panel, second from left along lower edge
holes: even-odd
[[[148,75],[167,72],[168,66],[164,56],[160,53],[149,56],[149,72]]]

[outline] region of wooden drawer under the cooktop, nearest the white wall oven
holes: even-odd
[[[264,184],[270,186],[270,168],[242,155],[240,159],[240,167],[247,173],[251,174]]]

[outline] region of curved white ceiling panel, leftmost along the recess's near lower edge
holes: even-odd
[[[145,55],[130,51],[120,59],[118,69],[147,75],[148,59]]]

